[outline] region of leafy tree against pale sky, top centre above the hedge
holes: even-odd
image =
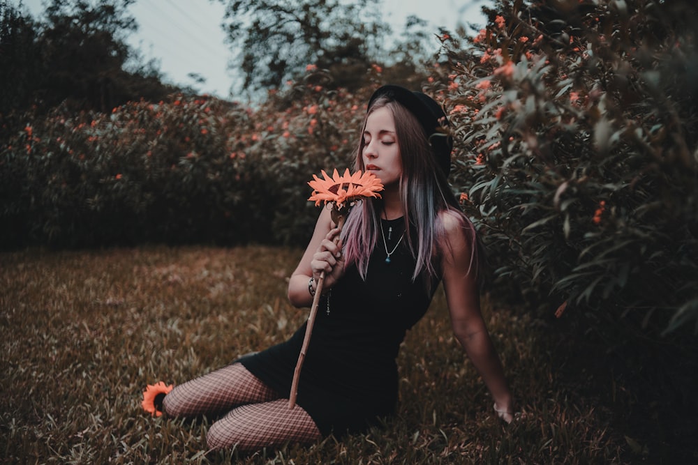
[[[390,28],[378,0],[221,0],[230,47],[251,91],[277,88],[313,64],[356,89]]]

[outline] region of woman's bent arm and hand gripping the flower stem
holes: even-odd
[[[288,300],[295,307],[310,307],[313,303],[313,295],[309,285],[315,291],[318,287],[320,273],[325,271],[325,284],[327,290],[344,273],[344,261],[341,257],[341,241],[334,243],[339,230],[334,228],[328,208],[322,208],[320,218],[315,223],[315,231],[308,247],[293,271],[288,282]],[[340,266],[336,266],[339,264]],[[310,278],[313,282],[310,283]],[[310,283],[310,284],[309,284]]]

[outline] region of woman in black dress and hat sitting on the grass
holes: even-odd
[[[442,124],[445,114],[423,93],[383,86],[369,100],[355,168],[380,178],[382,197],[355,206],[341,234],[323,209],[288,285],[290,302],[309,307],[325,273],[297,405],[290,409],[288,397],[305,325],[287,342],[177,386],[164,399],[168,416],[223,414],[207,434],[210,448],[361,431],[394,411],[399,345],[443,281],[454,333],[497,415],[512,420],[480,314],[475,229],[447,184],[452,144]]]

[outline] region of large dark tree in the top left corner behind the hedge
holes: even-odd
[[[110,111],[178,91],[163,84],[156,63],[143,63],[126,44],[126,33],[138,29],[128,14],[134,1],[53,0],[42,20],[23,15],[21,3],[0,3],[0,114],[61,102]]]

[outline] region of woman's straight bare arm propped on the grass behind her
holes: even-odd
[[[459,219],[442,213],[441,220],[447,231],[447,244],[441,251],[443,286],[454,335],[494,398],[497,415],[511,422],[512,395],[480,312],[480,291],[475,270],[470,269],[471,244]]]

